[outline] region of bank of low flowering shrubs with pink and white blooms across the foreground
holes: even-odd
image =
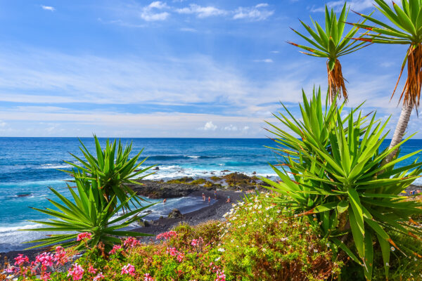
[[[251,196],[250,203],[234,205],[226,214],[228,222],[208,221],[195,227],[179,225],[157,235],[158,243],[143,244],[129,237],[110,251],[101,243],[88,247],[75,261],[63,257],[67,261],[66,269],[55,270],[49,278],[53,281],[225,281],[257,280],[257,277],[259,280],[324,280],[333,275],[331,270],[338,273],[341,263],[333,263],[326,239],[319,240],[319,229],[309,225],[305,218],[302,221],[288,218],[286,210],[267,199],[265,195]],[[66,252],[75,254],[71,249]],[[25,278],[20,275],[19,280],[38,280],[31,273],[37,264],[23,261],[18,267],[8,269],[16,275],[27,273]],[[271,274],[276,273],[279,275],[274,278]]]

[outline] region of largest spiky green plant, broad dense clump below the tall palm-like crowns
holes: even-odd
[[[321,115],[318,99],[314,96],[308,103],[304,96],[303,121],[285,107],[288,116],[281,114],[279,119],[300,138],[273,125],[275,140],[280,145],[276,152],[283,156],[283,169],[272,168],[281,182],[268,178],[262,181],[279,192],[280,204],[292,207],[298,216],[309,216],[309,221],[317,223],[330,238],[333,247],[361,264],[367,280],[372,276],[376,243],[381,248],[388,276],[391,249],[411,258],[415,256],[406,244],[393,241],[389,233],[422,235],[422,229],[410,219],[411,215],[422,214],[422,204],[400,196],[420,176],[422,163],[395,165],[422,150],[385,163],[383,159],[407,140],[381,150],[387,122],[377,121],[375,114],[368,120],[353,110],[342,119],[341,108],[336,107],[327,111],[332,110],[332,114]],[[309,116],[314,117],[312,122]]]

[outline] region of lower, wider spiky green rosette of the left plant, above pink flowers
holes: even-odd
[[[113,200],[106,202],[101,196],[100,181],[90,180],[75,174],[75,187],[68,186],[70,194],[74,202],[60,194],[60,192],[51,188],[51,191],[58,197],[58,200],[49,200],[56,209],[32,208],[41,213],[53,216],[49,221],[32,221],[40,223],[45,228],[34,228],[24,231],[44,231],[49,233],[60,233],[48,235],[49,237],[30,241],[28,243],[38,243],[28,249],[36,247],[45,247],[51,244],[60,244],[63,247],[76,246],[77,249],[84,249],[88,244],[94,247],[102,242],[107,250],[113,247],[113,244],[120,243],[117,237],[120,236],[148,236],[145,233],[137,233],[129,230],[121,230],[129,226],[131,223],[139,219],[136,216],[141,211],[148,209],[153,204],[141,207],[126,214],[119,214],[124,204],[129,202],[132,197],[127,197],[126,201],[121,202],[113,207]],[[77,190],[75,192],[74,188]],[[112,198],[113,199],[113,198]],[[142,217],[142,216],[141,216]],[[89,233],[89,240],[79,240],[77,237],[80,233]]]

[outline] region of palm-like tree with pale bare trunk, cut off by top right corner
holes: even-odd
[[[402,141],[404,131],[407,129],[407,124],[410,119],[411,111],[414,107],[419,106],[421,98],[422,86],[422,1],[421,0],[402,0],[402,8],[395,2],[392,2],[392,7],[384,0],[374,0],[376,8],[385,18],[389,20],[385,23],[381,20],[371,17],[371,15],[362,15],[366,20],[373,22],[379,27],[364,25],[362,23],[353,24],[354,27],[359,27],[370,31],[364,37],[357,38],[360,41],[367,41],[378,44],[404,44],[409,45],[407,53],[404,56],[402,69],[400,70],[399,78],[392,95],[394,95],[400,77],[402,76],[404,67],[407,63],[407,79],[404,83],[404,88],[400,96],[403,100],[402,113],[397,122],[395,133],[392,137],[390,148],[395,147],[397,143]],[[385,162],[390,162],[397,150],[394,150],[389,155]]]

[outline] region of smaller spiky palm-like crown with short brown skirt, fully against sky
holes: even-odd
[[[301,34],[296,30],[292,30],[298,34],[300,37],[305,39],[312,46],[303,46],[295,44],[293,42],[288,42],[293,46],[304,49],[306,52],[305,55],[312,55],[319,58],[327,58],[327,73],[328,73],[328,89],[331,102],[335,96],[343,97],[347,100],[347,89],[345,86],[345,79],[343,77],[343,72],[341,70],[341,64],[338,58],[342,55],[347,55],[354,51],[359,50],[367,46],[366,42],[357,42],[352,40],[357,30],[357,27],[353,27],[345,36],[343,32],[345,30],[345,21],[347,19],[348,11],[346,11],[346,4],[343,6],[343,9],[340,13],[340,17],[337,19],[335,12],[331,9],[331,12],[328,11],[326,6],[325,10],[325,30],[319,25],[318,22],[312,20],[314,25],[314,30],[309,25],[305,24],[300,20],[300,23],[305,27],[305,30],[310,34],[312,39],[309,39],[309,36]]]

